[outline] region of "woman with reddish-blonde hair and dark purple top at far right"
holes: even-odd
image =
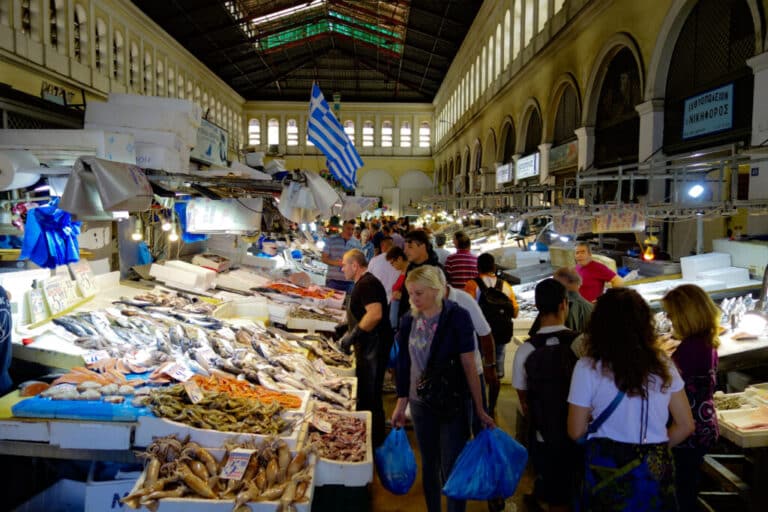
[[[681,340],[672,360],[685,383],[685,394],[696,422],[693,435],[672,450],[675,458],[677,501],[683,512],[698,510],[696,494],[704,455],[719,436],[712,395],[717,381],[720,310],[709,295],[694,284],[670,290],[661,305]]]

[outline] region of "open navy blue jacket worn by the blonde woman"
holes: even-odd
[[[407,397],[411,386],[411,354],[408,351],[408,338],[411,335],[413,315],[409,311],[400,319],[400,330],[395,342],[397,354],[397,396]],[[437,350],[435,353],[434,351]],[[448,361],[460,354],[474,352],[475,331],[469,313],[450,300],[443,300],[443,309],[437,321],[437,330],[432,340],[430,357],[436,362]],[[466,379],[464,380],[466,385]],[[414,383],[415,385],[415,383]],[[469,390],[469,386],[467,386]]]

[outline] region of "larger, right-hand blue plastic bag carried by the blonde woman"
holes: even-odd
[[[457,500],[508,498],[515,493],[528,452],[499,428],[483,429],[453,464],[443,494]]]

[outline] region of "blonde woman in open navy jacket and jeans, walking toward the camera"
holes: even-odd
[[[410,403],[428,512],[441,510],[440,489],[469,439],[470,402],[486,427],[495,426],[480,398],[472,319],[458,304],[445,300],[445,281],[439,272],[438,267],[425,265],[405,279],[411,311],[401,319],[396,339],[398,399],[392,414],[392,425],[402,427]],[[429,387],[425,383],[437,373],[449,375],[443,380],[448,385],[442,387],[455,396],[449,401],[455,405],[452,410],[438,407],[439,400],[425,390]],[[452,499],[447,503],[450,512],[463,512],[466,505]]]

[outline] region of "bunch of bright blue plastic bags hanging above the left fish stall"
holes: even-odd
[[[80,222],[73,221],[69,212],[60,210],[59,199],[27,212],[24,241],[19,259],[29,259],[43,268],[80,260]]]

